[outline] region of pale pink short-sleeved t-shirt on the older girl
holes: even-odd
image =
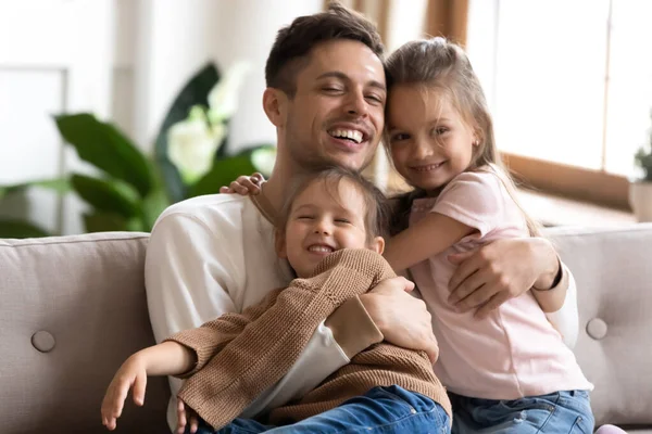
[[[447,298],[454,266],[447,256],[497,239],[528,237],[522,210],[499,176],[486,171],[455,177],[438,197],[414,201],[410,224],[439,213],[477,229],[444,252],[412,267],[432,315],[439,342],[435,373],[449,391],[484,399],[517,399],[559,391],[592,390],[575,355],[550,324],[530,291],[504,303],[488,318],[456,312]]]

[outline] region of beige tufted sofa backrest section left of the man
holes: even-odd
[[[151,345],[143,284],[147,234],[0,240],[0,431],[105,433],[100,405],[113,373]],[[170,396],[150,379],[117,432],[167,432]]]

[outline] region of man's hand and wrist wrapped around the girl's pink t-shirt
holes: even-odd
[[[559,267],[552,244],[540,238],[497,240],[449,260],[459,265],[449,282],[449,301],[460,311],[477,309],[478,318],[534,285],[550,288]]]

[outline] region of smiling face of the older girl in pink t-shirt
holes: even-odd
[[[393,164],[414,187],[437,193],[471,165],[477,138],[441,90],[392,87],[387,127]]]

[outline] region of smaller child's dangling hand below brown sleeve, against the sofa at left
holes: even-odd
[[[102,424],[109,431],[115,430],[117,418],[122,414],[127,393],[131,393],[134,403],[142,406],[145,403],[145,388],[147,387],[147,370],[145,362],[135,356],[129,357],[117,370],[104,399],[102,400]]]

